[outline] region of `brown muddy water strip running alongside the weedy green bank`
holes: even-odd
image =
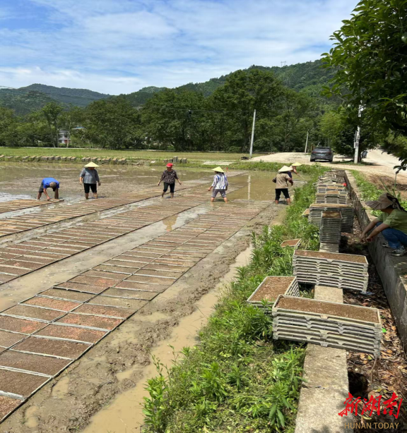
[[[177,327],[172,329],[172,334],[169,339],[160,341],[153,350],[151,356],[159,358],[165,365],[170,366],[174,359],[173,350],[179,353],[185,346],[194,346],[196,344],[196,333],[208,321],[208,317],[213,312],[213,307],[218,301],[218,296],[226,283],[235,279],[237,275],[237,267],[245,266],[249,263],[252,254],[252,247],[247,248],[236,257],[234,264],[230,266],[230,270],[218,285],[206,295],[204,295],[198,303],[196,310],[189,316],[184,317],[179,321]],[[148,319],[153,322],[163,319],[165,315],[160,312],[155,312]],[[172,346],[174,349],[172,349]],[[124,372],[117,374],[119,381],[129,379],[137,367],[134,367]],[[90,425],[86,427],[84,433],[136,433],[140,431],[140,426],[143,425],[142,405],[143,397],[148,396],[144,389],[146,379],[155,376],[155,367],[153,363],[144,369],[143,377],[138,384],[129,389],[129,391],[119,394],[110,405],[100,410],[90,421]]]

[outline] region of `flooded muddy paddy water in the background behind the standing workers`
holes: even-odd
[[[79,185],[80,164],[57,163],[0,163],[0,202],[15,198],[33,198],[37,195],[42,178],[54,177],[61,183],[60,195],[66,200],[83,196],[83,186]],[[177,166],[181,181],[208,179],[213,171],[208,169],[188,169]],[[163,168],[148,166],[110,166],[98,169],[102,185],[98,188],[100,197],[135,191],[153,185],[160,180]],[[230,172],[232,173],[232,171]],[[241,176],[233,176],[231,186],[243,188],[228,194],[230,200],[273,200],[275,185],[271,181],[276,173],[254,171]],[[299,181],[295,180],[299,184]]]

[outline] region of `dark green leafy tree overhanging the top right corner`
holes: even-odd
[[[334,86],[353,111],[361,104],[384,133],[407,135],[406,0],[362,0],[324,54],[336,68]],[[365,116],[365,111],[363,116]]]

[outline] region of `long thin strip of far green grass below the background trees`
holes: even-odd
[[[240,161],[242,157],[248,157],[243,153],[228,152],[162,152],[148,150],[105,150],[105,149],[67,149],[66,147],[0,147],[0,154],[6,156],[59,156],[59,157],[97,157],[97,158],[129,158],[153,161],[155,159],[170,159],[177,156],[191,161]],[[256,154],[260,156],[261,154]]]

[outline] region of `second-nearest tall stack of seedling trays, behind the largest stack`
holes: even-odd
[[[366,293],[369,275],[364,255],[295,250],[294,275],[299,283],[345,288]]]

